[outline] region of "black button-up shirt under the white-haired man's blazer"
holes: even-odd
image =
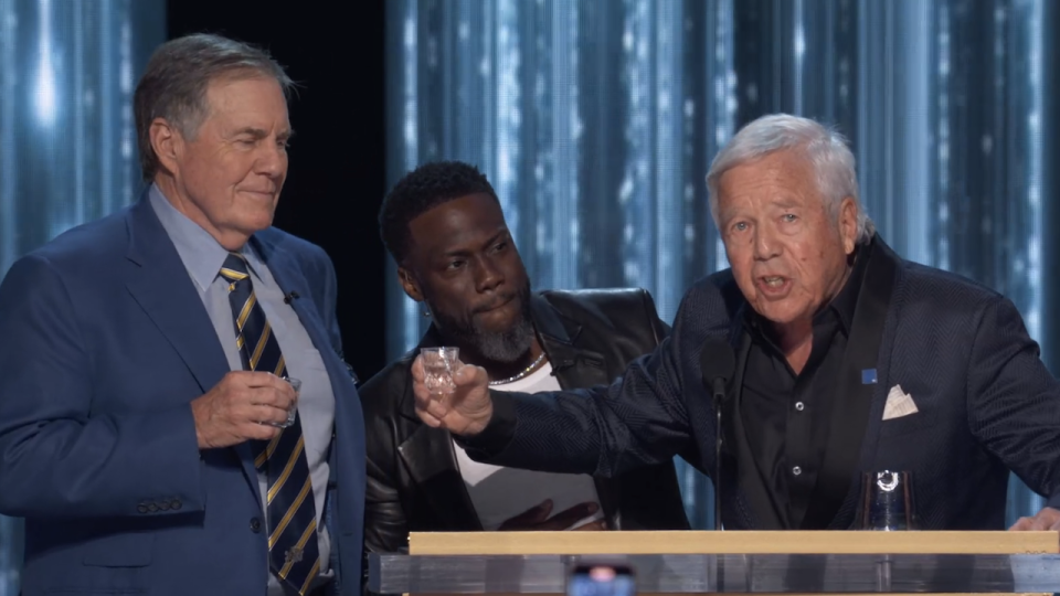
[[[745,311],[751,348],[739,414],[757,477],[784,529],[822,530],[835,514],[805,518],[825,458],[839,370],[865,278],[868,258],[862,256],[836,298],[814,317],[813,348],[798,374],[773,341],[768,321],[750,308]]]

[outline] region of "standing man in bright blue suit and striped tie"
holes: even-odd
[[[0,513],[25,518],[25,596],[360,592],[335,272],[271,227],[290,85],[224,38],[162,45],[135,97],[148,190],[0,285]]]

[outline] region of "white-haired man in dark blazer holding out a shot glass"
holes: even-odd
[[[474,459],[554,472],[698,450],[729,529],[859,528],[861,475],[887,470],[910,472],[922,529],[1004,529],[1009,470],[1047,499],[1015,529],[1060,529],[1060,384],[1009,300],[891,252],[841,137],[761,118],[708,187],[732,268],[688,290],[650,356],[610,387],[536,395],[488,391],[475,366],[431,395],[415,364],[421,418]],[[727,349],[734,372],[712,371]],[[729,381],[720,470],[704,376]]]

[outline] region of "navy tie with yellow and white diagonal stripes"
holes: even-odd
[[[272,333],[265,311],[257,304],[250,270],[242,255],[230,253],[221,268],[229,281],[229,301],[235,318],[236,345],[243,369],[287,376],[279,343]],[[317,514],[309,480],[301,419],[268,441],[252,441],[254,465],[266,472],[268,494],[268,561],[276,576],[305,595],[320,571],[317,545]]]

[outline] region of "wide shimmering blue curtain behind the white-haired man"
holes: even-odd
[[[837,125],[907,258],[1013,298],[1043,334],[1046,0],[391,0],[389,179],[462,159],[496,187],[537,288],[642,286],[671,319],[724,267],[704,174],[763,114]],[[388,280],[391,356],[426,320]],[[681,465],[695,525],[709,481]],[[1018,480],[1009,514],[1041,500]]]

